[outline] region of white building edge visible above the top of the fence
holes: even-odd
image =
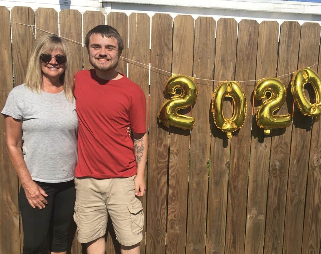
[[[263,20],[276,20],[280,24],[285,21],[318,22],[321,25],[321,3],[281,1],[281,0],[0,0],[0,5],[9,10],[14,6],[29,6],[33,10],[39,7],[54,8],[57,12],[62,9],[75,9],[80,13],[86,11],[147,13],[169,13],[172,17],[178,14],[211,16],[215,20],[222,17],[255,19],[259,23]]]

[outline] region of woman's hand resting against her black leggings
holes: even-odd
[[[47,193],[39,187],[34,181],[30,181],[22,185],[28,203],[32,208],[45,208],[48,202],[44,197],[48,197]]]

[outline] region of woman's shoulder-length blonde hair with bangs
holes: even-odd
[[[41,54],[50,54],[59,49],[66,57],[65,72],[59,77],[60,83],[64,87],[65,96],[69,101],[73,101],[74,72],[71,59],[71,53],[67,43],[56,35],[45,35],[37,40],[35,47],[30,55],[25,84],[30,90],[41,93],[42,72],[41,72]]]

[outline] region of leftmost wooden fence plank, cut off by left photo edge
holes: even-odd
[[[0,109],[13,88],[10,13],[0,6]],[[20,253],[18,178],[6,152],[4,117],[0,121],[0,253]]]

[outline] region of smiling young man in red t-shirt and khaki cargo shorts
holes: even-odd
[[[142,89],[118,73],[123,41],[113,27],[99,25],[85,44],[91,65],[75,76],[79,119],[74,220],[88,254],[106,253],[108,214],[122,254],[138,254],[142,240],[147,158],[146,99]],[[126,130],[131,126],[134,143]],[[122,134],[124,133],[124,134]]]

